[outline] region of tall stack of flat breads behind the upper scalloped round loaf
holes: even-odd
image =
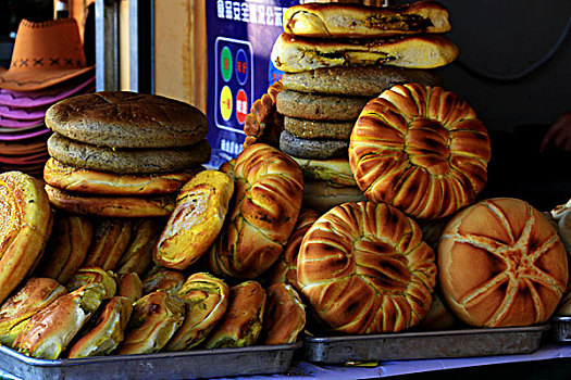
[[[362,201],[347,155],[355,123],[369,100],[396,84],[440,84],[430,68],[458,55],[442,36],[450,29],[448,11],[433,1],[307,3],[284,13],[284,29],[272,51],[285,72],[276,97],[280,148],[303,169],[305,205],[325,211]]]

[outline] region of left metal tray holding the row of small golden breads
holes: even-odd
[[[191,379],[278,373],[289,369],[301,342],[78,359],[36,359],[0,346],[0,368],[28,379]]]

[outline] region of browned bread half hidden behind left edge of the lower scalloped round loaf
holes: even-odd
[[[272,269],[269,270],[268,282],[270,284],[284,282],[293,286],[295,289],[299,288],[297,283],[297,255],[299,253],[299,246],[309,227],[311,227],[320,216],[321,213],[314,210],[301,210],[297,218],[296,227],[294,227],[294,232],[291,232],[291,236],[287,240],[284,252],[282,252]]]

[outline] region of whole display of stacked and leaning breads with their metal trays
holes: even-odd
[[[481,199],[486,127],[433,71],[458,55],[447,10],[283,17],[285,74],[218,168],[190,104],[102,91],[47,111],[45,183],[0,174],[0,362],[208,378],[283,372],[300,347],[325,364],[537,350],[568,253],[526,202]]]

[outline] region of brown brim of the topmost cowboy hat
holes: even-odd
[[[94,66],[73,69],[3,71],[0,72],[0,88],[12,91],[35,91],[75,78]]]

